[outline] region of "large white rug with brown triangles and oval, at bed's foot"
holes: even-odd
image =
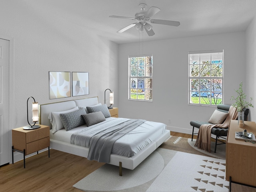
[[[83,191],[228,192],[225,160],[158,148],[134,170],[105,164],[73,187]]]

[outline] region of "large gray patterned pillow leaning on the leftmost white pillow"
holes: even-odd
[[[60,114],[60,118],[64,124],[64,128],[66,131],[76,128],[78,126],[84,125],[84,119],[81,115],[86,114],[84,108],[80,108],[76,111],[72,111],[69,113]]]

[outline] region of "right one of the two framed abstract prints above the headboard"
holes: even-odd
[[[89,94],[89,73],[72,72],[72,96]]]

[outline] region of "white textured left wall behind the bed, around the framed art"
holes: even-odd
[[[6,0],[0,5],[1,36],[14,42],[11,129],[28,124],[30,96],[39,104],[92,96],[104,103],[110,88],[118,106],[118,45],[96,36],[86,22],[80,26],[50,8]],[[89,72],[89,95],[50,100],[49,71]]]

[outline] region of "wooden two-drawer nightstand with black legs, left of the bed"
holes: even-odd
[[[25,156],[48,147],[50,157],[50,127],[40,125],[38,129],[24,130],[23,127],[12,129],[12,164],[13,152],[23,153],[24,168]]]

